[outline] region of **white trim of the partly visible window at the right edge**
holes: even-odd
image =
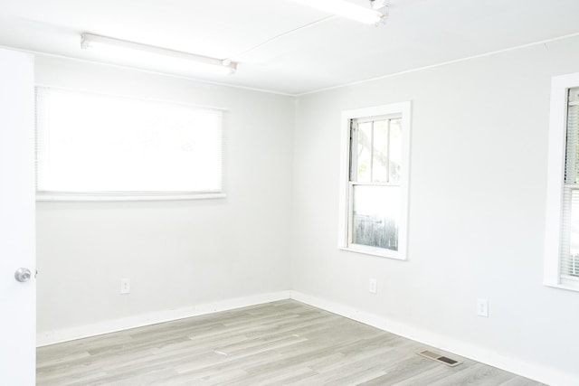
[[[543,284],[579,291],[579,287],[561,283],[561,221],[565,180],[568,89],[579,87],[579,73],[553,77],[551,80],[551,116],[546,181],[546,227]]]

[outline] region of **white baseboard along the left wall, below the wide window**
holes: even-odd
[[[238,297],[202,305],[164,310],[151,314],[129,316],[91,325],[44,331],[39,332],[36,335],[36,345],[40,347],[48,344],[57,344],[89,336],[114,333],[129,328],[142,327],[144,325],[156,325],[157,323],[169,322],[172,320],[183,319],[185,317],[212,314],[234,308],[255,306],[284,299],[289,299],[289,291],[260,294],[251,297]]]

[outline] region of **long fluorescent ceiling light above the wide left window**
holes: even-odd
[[[195,53],[128,42],[94,33],[81,34],[81,48],[99,50],[104,60],[156,71],[179,74],[211,72],[226,75],[233,74],[237,70],[237,63],[227,59],[221,60]]]

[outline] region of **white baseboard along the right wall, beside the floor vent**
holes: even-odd
[[[545,365],[529,363],[520,359],[501,355],[489,349],[480,348],[441,334],[415,328],[393,321],[385,320],[384,317],[366,313],[350,306],[343,306],[318,297],[311,297],[298,291],[290,291],[290,297],[301,303],[316,306],[331,313],[346,316],[356,322],[372,325],[392,334],[397,334],[413,341],[439,348],[449,353],[456,353],[474,361],[489,364],[507,372],[513,372],[532,380],[558,386],[575,386],[579,384],[577,375],[559,372]]]

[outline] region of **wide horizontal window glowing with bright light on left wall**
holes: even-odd
[[[222,115],[184,104],[37,88],[37,196],[223,196]]]

